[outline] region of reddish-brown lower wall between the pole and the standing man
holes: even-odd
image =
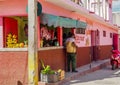
[[[39,62],[43,60],[45,65],[50,65],[52,69],[64,69],[65,70],[65,52],[63,49],[53,50],[41,50],[38,53]],[[41,64],[39,63],[40,67]]]

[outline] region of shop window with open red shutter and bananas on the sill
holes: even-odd
[[[27,17],[4,17],[4,47],[24,48],[28,46]]]

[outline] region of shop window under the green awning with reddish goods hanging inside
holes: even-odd
[[[40,47],[59,46],[57,29],[43,24],[40,27]]]

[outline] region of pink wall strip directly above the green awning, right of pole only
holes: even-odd
[[[39,1],[42,4],[42,8],[43,8],[42,12],[43,13],[53,14],[53,15],[57,15],[57,16],[65,16],[65,17],[69,17],[69,18],[73,18],[73,19],[79,19],[81,21],[86,21],[85,17],[83,17],[75,12],[68,11],[64,8],[58,7],[54,4],[46,2],[45,0],[39,0]]]

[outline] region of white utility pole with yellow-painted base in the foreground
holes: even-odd
[[[28,0],[28,85],[38,85],[37,0]]]

